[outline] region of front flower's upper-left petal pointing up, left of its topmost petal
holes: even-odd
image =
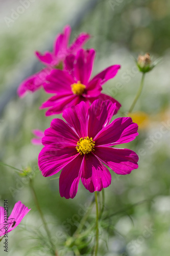
[[[80,138],[87,136],[87,111],[88,106],[84,101],[63,111],[63,118],[74,127]]]

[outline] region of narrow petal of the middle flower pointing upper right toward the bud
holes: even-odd
[[[101,78],[101,85],[103,85],[105,82],[107,82],[109,79],[112,79],[117,74],[118,70],[120,69],[120,65],[113,65],[108,67],[107,69],[103,70],[98,75],[94,76],[95,78]]]

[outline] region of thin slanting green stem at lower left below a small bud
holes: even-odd
[[[41,208],[40,208],[40,205],[39,205],[39,202],[38,202],[38,198],[37,198],[37,195],[36,195],[34,186],[33,186],[33,180],[32,180],[32,179],[30,179],[30,188],[31,188],[31,191],[32,191],[32,194],[33,194],[33,198],[34,198],[35,205],[37,206],[37,209],[38,209],[38,211],[39,211],[39,214],[40,214],[42,223],[43,223],[43,225],[44,225],[44,229],[45,229],[45,231],[46,231],[46,233],[47,233],[48,240],[49,240],[50,243],[51,243],[53,254],[56,256],[56,255],[58,255],[58,254],[57,254],[57,251],[56,251],[56,249],[55,249],[55,246],[54,246],[54,244],[53,244],[53,242],[52,242],[50,230],[48,229],[48,226],[47,226],[47,224],[46,224],[46,221],[45,221],[45,218],[44,218],[44,216],[43,216],[42,210],[41,210]]]

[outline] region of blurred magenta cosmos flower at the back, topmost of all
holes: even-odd
[[[68,46],[70,33],[70,26],[65,26],[63,33],[59,34],[55,40],[53,52],[45,52],[44,54],[35,52],[37,58],[47,68],[44,68],[40,72],[30,76],[20,84],[18,88],[19,97],[25,96],[27,91],[37,91],[42,86],[42,83],[45,81],[45,78],[50,73],[50,71],[58,66],[62,67],[62,62],[66,56],[69,54],[76,54],[77,51],[82,48],[85,42],[90,38],[89,34],[81,33],[74,40],[74,42]]]

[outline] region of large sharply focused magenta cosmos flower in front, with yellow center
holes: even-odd
[[[82,101],[64,110],[66,122],[54,119],[45,130],[38,165],[44,177],[62,169],[61,197],[74,198],[80,179],[91,193],[108,187],[111,174],[105,165],[120,175],[138,168],[135,152],[111,147],[130,142],[138,135],[138,126],[130,117],[120,117],[109,124],[115,111],[116,104],[110,100],[95,100],[89,109]]]

